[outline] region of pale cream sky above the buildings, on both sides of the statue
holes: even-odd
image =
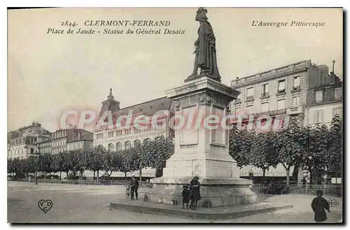
[[[120,107],[165,96],[193,71],[197,8],[54,8],[8,11],[8,131],[36,120],[59,129],[64,110],[96,110],[109,88]],[[208,8],[223,83],[311,59],[342,78],[341,8]],[[46,34],[60,22],[169,20],[185,34]],[[324,27],[252,27],[252,21],[325,22]],[[138,27],[91,27],[137,29]]]

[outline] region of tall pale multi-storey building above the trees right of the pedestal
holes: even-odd
[[[247,117],[290,115],[302,119],[307,89],[316,84],[314,78],[320,69],[307,60],[232,80],[231,87],[241,94],[232,101],[231,113]]]

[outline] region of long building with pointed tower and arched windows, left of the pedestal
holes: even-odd
[[[100,117],[106,111],[110,111],[114,124],[113,128],[102,127],[101,122],[98,122],[94,131],[94,146],[103,145],[106,150],[118,152],[120,150],[132,148],[145,141],[155,140],[161,136],[167,138],[174,136],[174,132],[169,128],[169,119],[173,114],[171,110],[172,100],[167,97],[146,101],[127,108],[119,108],[119,102],[116,103],[112,92],[106,101],[102,102]],[[117,106],[118,104],[118,106]],[[168,115],[155,115],[158,111],[167,110]],[[139,129],[134,124],[135,117],[146,116],[150,117],[150,123],[144,129]],[[121,117],[124,117],[120,120]],[[130,122],[127,122],[130,120]],[[106,122],[106,120],[104,120]],[[138,175],[139,172],[134,172],[132,175]],[[142,175],[146,177],[154,177],[155,170],[144,168]],[[124,173],[113,173],[113,176],[124,176]]]

